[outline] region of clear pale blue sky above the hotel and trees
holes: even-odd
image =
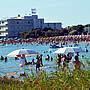
[[[45,22],[61,22],[62,27],[90,24],[90,0],[0,0],[0,19],[29,15],[31,8]]]

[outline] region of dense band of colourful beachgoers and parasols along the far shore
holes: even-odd
[[[2,39],[0,40],[0,43],[2,45],[6,45],[6,44],[12,44],[12,45],[16,45],[16,44],[34,44],[34,43],[38,43],[38,44],[48,44],[48,43],[52,43],[52,41],[55,41],[57,43],[70,43],[70,42],[89,42],[90,41],[90,35],[68,35],[68,36],[56,36],[56,37],[47,37],[47,38],[29,38],[29,39],[15,39],[15,38],[8,38],[8,39]]]

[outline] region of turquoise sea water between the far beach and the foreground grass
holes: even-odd
[[[81,47],[83,50],[85,50],[85,46],[87,43],[80,43],[78,47]],[[60,45],[60,44],[59,44]],[[70,44],[73,46],[73,44]],[[0,56],[7,56],[10,52],[17,50],[17,49],[32,49],[34,51],[39,52],[39,54],[43,55],[43,67],[41,68],[41,70],[45,70],[46,72],[50,72],[50,71],[55,71],[56,70],[56,55],[57,54],[53,54],[53,52],[55,49],[52,49],[49,47],[49,44],[17,44],[17,45],[5,45],[2,46],[0,45]],[[80,57],[81,55],[85,55],[86,57],[88,57],[90,59],[90,45],[87,47],[88,51],[87,53],[80,53]],[[53,57],[53,61],[46,61],[45,58],[47,57],[47,54],[49,54],[50,56]],[[30,62],[32,60],[32,58],[34,58],[34,60],[36,61],[36,57],[26,57],[27,61]],[[72,59],[73,61],[74,59]],[[84,64],[85,64],[85,60],[83,60]],[[18,72],[18,75],[20,73],[22,73],[24,70],[28,73],[30,73],[30,70],[27,69],[31,69],[33,70],[33,72],[35,72],[35,65],[33,65],[32,67],[30,67],[30,65],[27,65],[26,67],[23,67],[20,70],[19,67],[20,64],[20,60],[15,60],[14,58],[8,58],[7,62],[4,62],[4,60],[0,60],[0,76],[5,75],[6,73],[9,72]],[[72,66],[71,66],[72,68]]]

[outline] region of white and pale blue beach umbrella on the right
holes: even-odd
[[[77,53],[77,52],[85,52],[79,47],[64,47],[56,50],[54,54],[59,54],[59,53]]]

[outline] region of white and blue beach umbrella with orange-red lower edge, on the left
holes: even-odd
[[[24,54],[25,56],[37,56],[39,53],[31,49],[18,49],[7,55],[7,57],[19,57]]]

